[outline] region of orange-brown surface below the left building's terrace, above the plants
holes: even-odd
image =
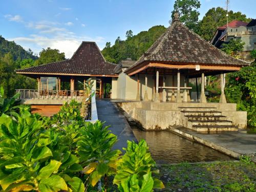
[[[62,105],[31,105],[31,112],[51,117],[58,113]]]

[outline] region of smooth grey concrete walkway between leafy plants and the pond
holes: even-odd
[[[126,118],[117,109],[115,103],[107,99],[98,99],[96,105],[98,119],[102,122],[105,121],[105,125],[111,125],[109,129],[117,135],[118,142],[114,145],[114,149],[122,150],[122,147],[126,148],[127,140],[137,141]]]

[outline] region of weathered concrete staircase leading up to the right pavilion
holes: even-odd
[[[238,131],[238,126],[227,120],[217,108],[213,107],[179,107],[181,124],[191,130],[207,131]]]

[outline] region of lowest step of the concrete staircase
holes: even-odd
[[[193,125],[191,128],[195,131],[238,131],[238,126],[235,125]]]

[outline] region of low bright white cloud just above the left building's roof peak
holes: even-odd
[[[22,45],[25,49],[31,48],[35,53],[39,53],[42,48],[58,49],[64,52],[66,58],[72,57],[82,41],[95,41],[97,44],[102,43],[103,37],[91,38],[87,36],[67,36],[60,34],[54,37],[32,34],[29,37],[16,37],[8,40],[14,40],[17,44]]]

